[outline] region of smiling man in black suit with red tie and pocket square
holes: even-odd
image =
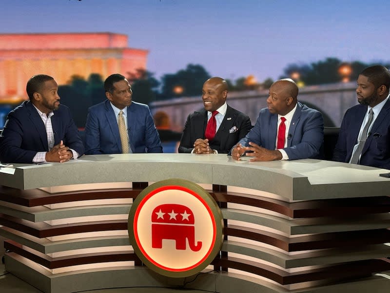
[[[188,115],[181,136],[179,153],[227,154],[251,130],[248,115],[226,103],[228,84],[212,77],[203,84],[204,108]]]

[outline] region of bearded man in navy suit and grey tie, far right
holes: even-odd
[[[360,73],[356,88],[360,105],[351,107],[344,115],[334,161],[390,169],[389,88],[390,73],[386,67],[375,65]],[[362,137],[364,132],[366,136]]]

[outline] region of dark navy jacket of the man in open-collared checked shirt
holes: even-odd
[[[51,117],[54,145],[62,140],[81,156],[84,146],[67,106],[59,105]],[[37,109],[25,101],[8,113],[0,136],[0,161],[10,163],[32,163],[39,151],[48,151],[46,128]]]

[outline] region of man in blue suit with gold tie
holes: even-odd
[[[104,82],[107,100],[88,109],[85,124],[86,154],[160,153],[160,138],[149,107],[132,102],[131,85],[120,74]],[[125,142],[121,141],[118,122],[123,117]],[[125,144],[126,146],[122,145]]]

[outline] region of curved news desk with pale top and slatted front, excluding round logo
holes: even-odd
[[[89,155],[0,169],[5,268],[45,293],[184,287],[220,293],[388,293],[388,170],[223,154]],[[129,243],[133,199],[181,178],[218,203],[225,239],[198,276],[149,270]],[[386,244],[388,243],[388,244]]]

